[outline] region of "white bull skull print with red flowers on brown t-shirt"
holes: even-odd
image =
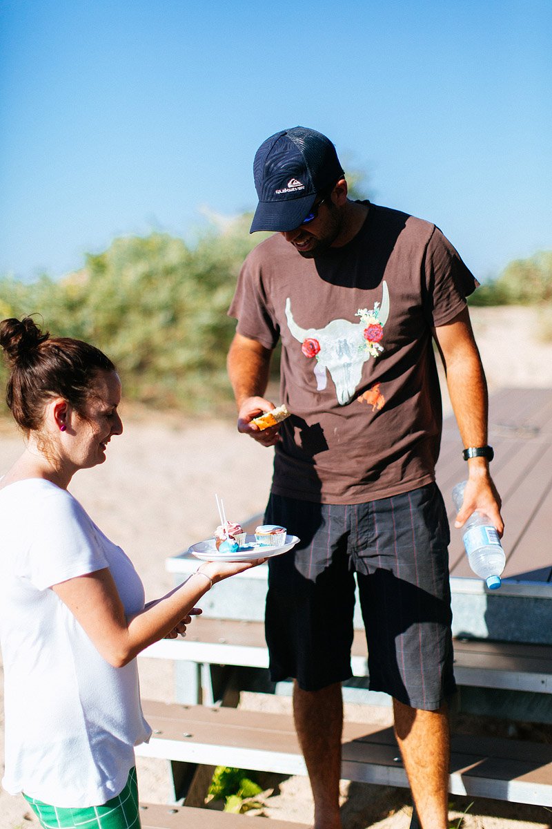
[[[372,311],[359,308],[355,317],[360,322],[334,319],[324,328],[301,328],[291,313],[291,301],[286,299],[286,318],[291,334],[301,343],[306,357],[314,358],[316,387],[322,391],[328,385],[328,374],[334,381],[338,404],[352,400],[362,376],[362,365],[383,351],[380,341],[383,326],[389,317],[389,291],[382,282],[382,303],[374,303]]]

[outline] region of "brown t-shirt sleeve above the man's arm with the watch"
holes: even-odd
[[[438,227],[425,251],[425,313],[431,327],[453,320],[478,281]]]

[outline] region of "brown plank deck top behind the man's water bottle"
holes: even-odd
[[[503,579],[552,584],[552,390],[504,389],[489,402],[492,477],[502,497],[506,526]],[[451,523],[450,573],[472,578],[461,532],[454,529],[451,491],[466,477],[454,417],[444,421],[437,482]],[[552,593],[550,594],[552,595]]]

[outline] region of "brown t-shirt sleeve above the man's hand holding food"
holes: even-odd
[[[271,351],[276,347],[280,329],[263,282],[257,249],[247,256],[242,265],[228,316],[237,318],[236,331],[242,337],[256,340]]]

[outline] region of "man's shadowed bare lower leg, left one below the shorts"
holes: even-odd
[[[336,682],[320,691],[301,691],[295,682],[293,712],[313,792],[314,829],[341,829],[341,683]]]

